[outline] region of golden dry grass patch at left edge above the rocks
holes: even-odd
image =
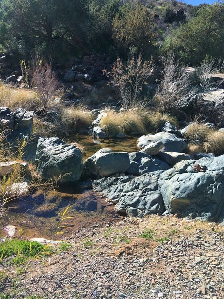
[[[24,107],[32,109],[37,104],[36,92],[28,89],[8,87],[3,84],[0,86],[0,106],[9,107],[11,110]]]

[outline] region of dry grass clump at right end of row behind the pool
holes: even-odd
[[[145,117],[147,118],[149,125],[154,130],[160,129],[166,122],[170,122],[174,124],[174,126],[178,127],[177,118],[168,113],[148,111]]]

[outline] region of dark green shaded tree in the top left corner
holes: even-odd
[[[67,38],[83,44],[91,32],[88,1],[82,0],[2,0],[0,4],[1,43],[28,48]]]

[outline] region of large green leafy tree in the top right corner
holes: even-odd
[[[196,17],[167,37],[162,51],[197,65],[206,55],[224,58],[224,3],[202,6]]]

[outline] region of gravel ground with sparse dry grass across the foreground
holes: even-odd
[[[224,298],[224,227],[219,224],[123,218],[80,227],[67,241],[68,251],[31,260],[25,273],[2,264],[1,294],[15,299]]]

